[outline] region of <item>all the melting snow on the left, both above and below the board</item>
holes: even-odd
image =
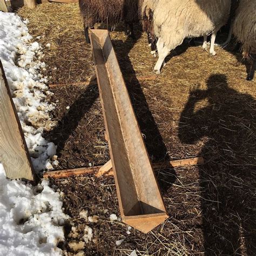
[[[16,105],[35,170],[57,163],[56,146],[43,138],[54,125],[49,116],[54,105],[40,70],[45,63],[41,46],[30,43],[26,22],[16,14],[0,12],[0,58]],[[0,152],[1,153],[1,152]],[[53,161],[52,161],[53,160]],[[46,180],[32,186],[10,180],[0,164],[0,255],[60,255],[63,227],[60,195]]]

